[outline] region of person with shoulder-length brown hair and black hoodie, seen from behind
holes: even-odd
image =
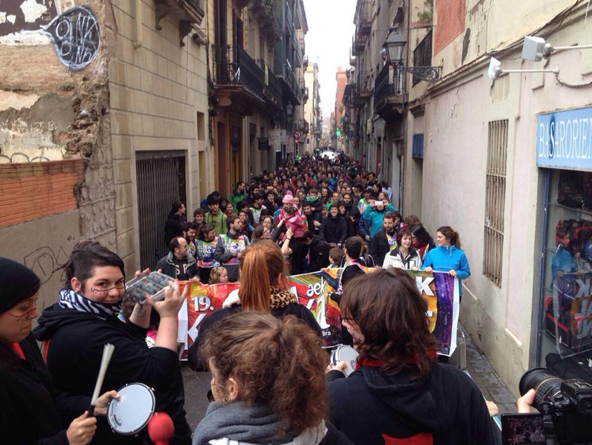
[[[329,420],[338,430],[358,445],[403,438],[413,444],[494,443],[476,384],[434,360],[428,305],[409,274],[381,269],[355,278],[340,308],[359,357],[355,372],[329,384]]]

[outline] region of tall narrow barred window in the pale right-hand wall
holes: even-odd
[[[483,275],[497,287],[501,287],[501,264],[504,251],[507,158],[508,121],[492,121],[489,123],[487,174],[485,175]]]

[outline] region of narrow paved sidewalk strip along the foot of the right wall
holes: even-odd
[[[481,389],[481,392],[487,400],[495,402],[499,408],[499,414],[508,414],[516,412],[516,399],[512,395],[504,382],[497,376],[487,357],[477,348],[472,338],[465,328],[460,326],[465,333],[465,342],[467,344],[467,370],[474,382]],[[451,363],[454,360],[451,359]]]

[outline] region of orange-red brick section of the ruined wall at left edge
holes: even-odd
[[[0,227],[76,209],[83,169],[81,159],[0,164]]]

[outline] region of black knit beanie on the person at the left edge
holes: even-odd
[[[0,314],[31,298],[40,285],[39,277],[31,269],[0,257]]]

